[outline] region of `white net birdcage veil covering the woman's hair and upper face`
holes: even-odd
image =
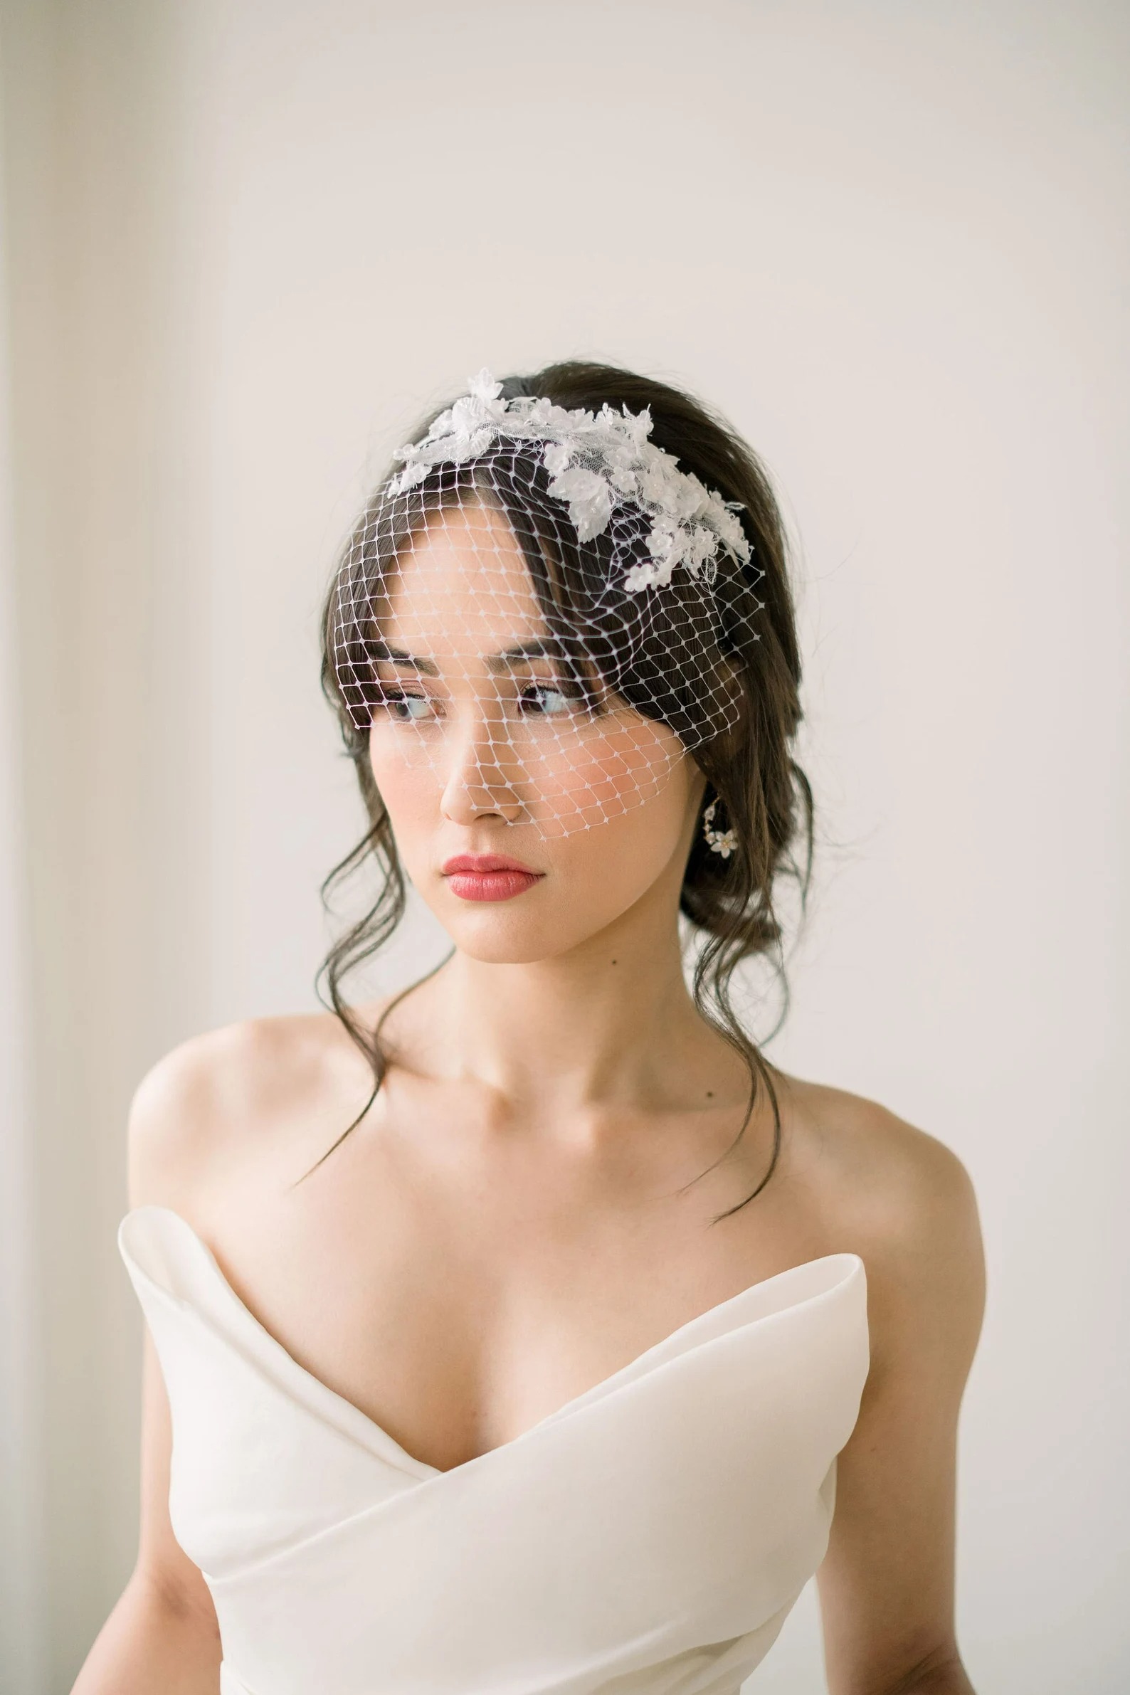
[[[503,424],[491,439],[444,436],[444,414],[425,437],[439,444],[405,449],[420,463],[378,490],[339,571],[334,664],[378,783],[396,766],[434,781],[464,822],[495,814],[566,836],[645,803],[681,758],[737,725],[759,571],[744,536],[712,547],[713,532],[703,541],[678,514],[661,532],[656,498],[630,466],[610,470],[607,449],[578,449],[559,422],[537,432],[529,403],[512,432],[507,403],[490,408]],[[578,471],[610,490],[595,519],[562,490],[569,442],[574,497],[593,493]],[[652,497],[723,510],[647,453],[666,461]]]

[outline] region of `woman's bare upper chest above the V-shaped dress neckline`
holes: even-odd
[[[788,1161],[774,1193],[712,1224],[756,1186],[756,1148],[695,1183],[717,1142],[605,1129],[596,1148],[378,1122],[296,1186],[249,1161],[195,1222],[307,1371],[447,1470],[827,1251]]]

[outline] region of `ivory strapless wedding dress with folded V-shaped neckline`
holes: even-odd
[[[176,1212],[132,1209],[119,1248],[222,1695],[735,1695],[823,1558],[867,1375],[856,1254],[439,1471],[300,1366]]]

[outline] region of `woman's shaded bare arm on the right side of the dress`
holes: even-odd
[[[954,1631],[954,1493],[981,1232],[947,1149],[920,1137],[911,1166],[866,1254],[871,1376],[818,1575],[832,1695],[972,1695]]]

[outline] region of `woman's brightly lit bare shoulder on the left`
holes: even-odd
[[[366,1076],[363,1054],[330,1014],[247,1019],[193,1036],[134,1092],[130,1205],[185,1205],[225,1171],[317,1132],[342,1102],[361,1093],[361,1103]]]

